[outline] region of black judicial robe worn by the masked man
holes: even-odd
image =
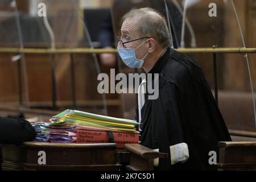
[[[217,169],[208,162],[209,152],[216,151],[218,162],[218,142],[231,138],[200,66],[169,48],[149,73],[159,73],[159,97],[148,100],[145,94],[140,140],[168,154],[155,169]],[[170,146],[178,143],[187,143],[189,158],[171,165]]]

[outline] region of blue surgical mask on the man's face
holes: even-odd
[[[147,42],[147,40],[145,42]],[[145,42],[143,42],[142,44],[144,44]],[[146,56],[143,57],[143,59],[137,59],[137,57],[135,55],[135,50],[138,49],[139,47],[141,47],[142,44],[140,46],[138,46],[137,48],[117,48],[119,56],[123,60],[123,63],[125,63],[127,65],[127,67],[130,67],[130,68],[141,68],[142,67],[142,65],[144,63],[143,59],[145,59],[145,57],[149,53],[148,52],[146,54]]]

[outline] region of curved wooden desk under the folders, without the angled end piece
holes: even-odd
[[[2,145],[3,170],[118,170],[115,143],[61,144],[25,142],[23,146]],[[39,151],[46,164],[39,164]]]

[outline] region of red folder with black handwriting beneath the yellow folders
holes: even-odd
[[[117,148],[123,148],[125,143],[139,143],[138,133],[111,131]],[[77,143],[109,143],[108,131],[77,130]]]

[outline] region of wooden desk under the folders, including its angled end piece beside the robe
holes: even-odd
[[[3,170],[142,170],[154,169],[158,152],[140,144],[125,144],[116,150],[115,143],[61,144],[25,142],[22,146],[2,144]],[[46,154],[46,164],[39,164]]]

